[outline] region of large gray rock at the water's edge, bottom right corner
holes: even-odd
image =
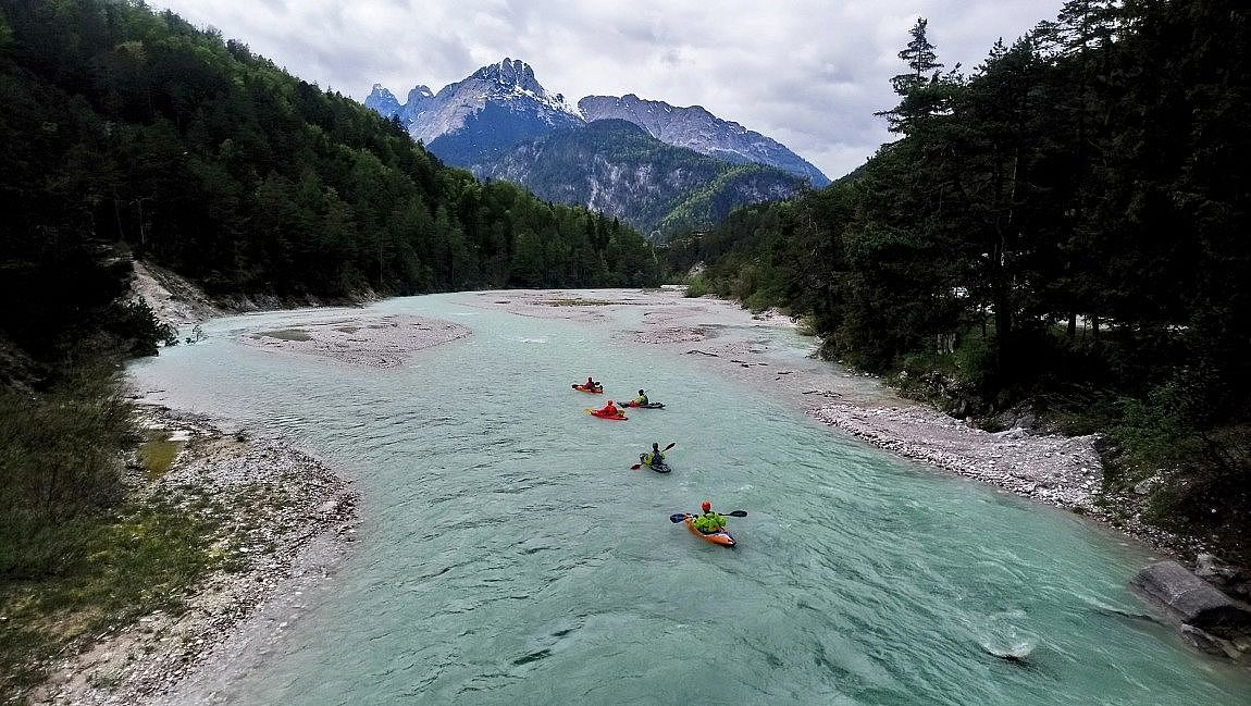
[[[1251,607],[1230,598],[1175,561],[1153,563],[1130,586],[1162,603],[1182,623],[1232,638],[1251,631]]]

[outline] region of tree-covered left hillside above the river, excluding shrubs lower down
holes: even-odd
[[[629,228],[447,169],[393,121],[176,15],[3,8],[0,255],[29,263],[40,294],[79,302],[90,285],[66,287],[50,245],[119,242],[214,295],[658,282]]]

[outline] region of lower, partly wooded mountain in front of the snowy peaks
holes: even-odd
[[[736,207],[786,199],[806,187],[781,169],[668,145],[627,120],[595,120],[529,140],[473,171],[664,233],[709,227]]]

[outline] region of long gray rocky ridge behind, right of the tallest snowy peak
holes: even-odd
[[[756,163],[776,166],[824,187],[829,179],[819,169],[786,145],[754,130],[722,120],[698,105],[677,108],[661,100],[643,100],[634,94],[620,98],[588,95],[578,101],[585,120],[615,118],[629,120],[656,139],[676,146],[737,164]]]

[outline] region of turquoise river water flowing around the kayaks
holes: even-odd
[[[1251,702],[1242,673],[1122,615],[1148,610],[1125,588],[1147,550],[612,327],[463,302],[353,312],[472,329],[400,368],[233,340],[318,310],[218,319],[208,340],[131,368],[176,407],[294,438],[363,494],[352,558],[238,702]],[[774,339],[783,357],[811,347]],[[668,408],[590,418],[595,398],[569,389],[588,373]],[[677,442],[672,474],[629,469],[652,441]],[[738,547],[669,523],[704,498],[748,512],[731,519]]]

